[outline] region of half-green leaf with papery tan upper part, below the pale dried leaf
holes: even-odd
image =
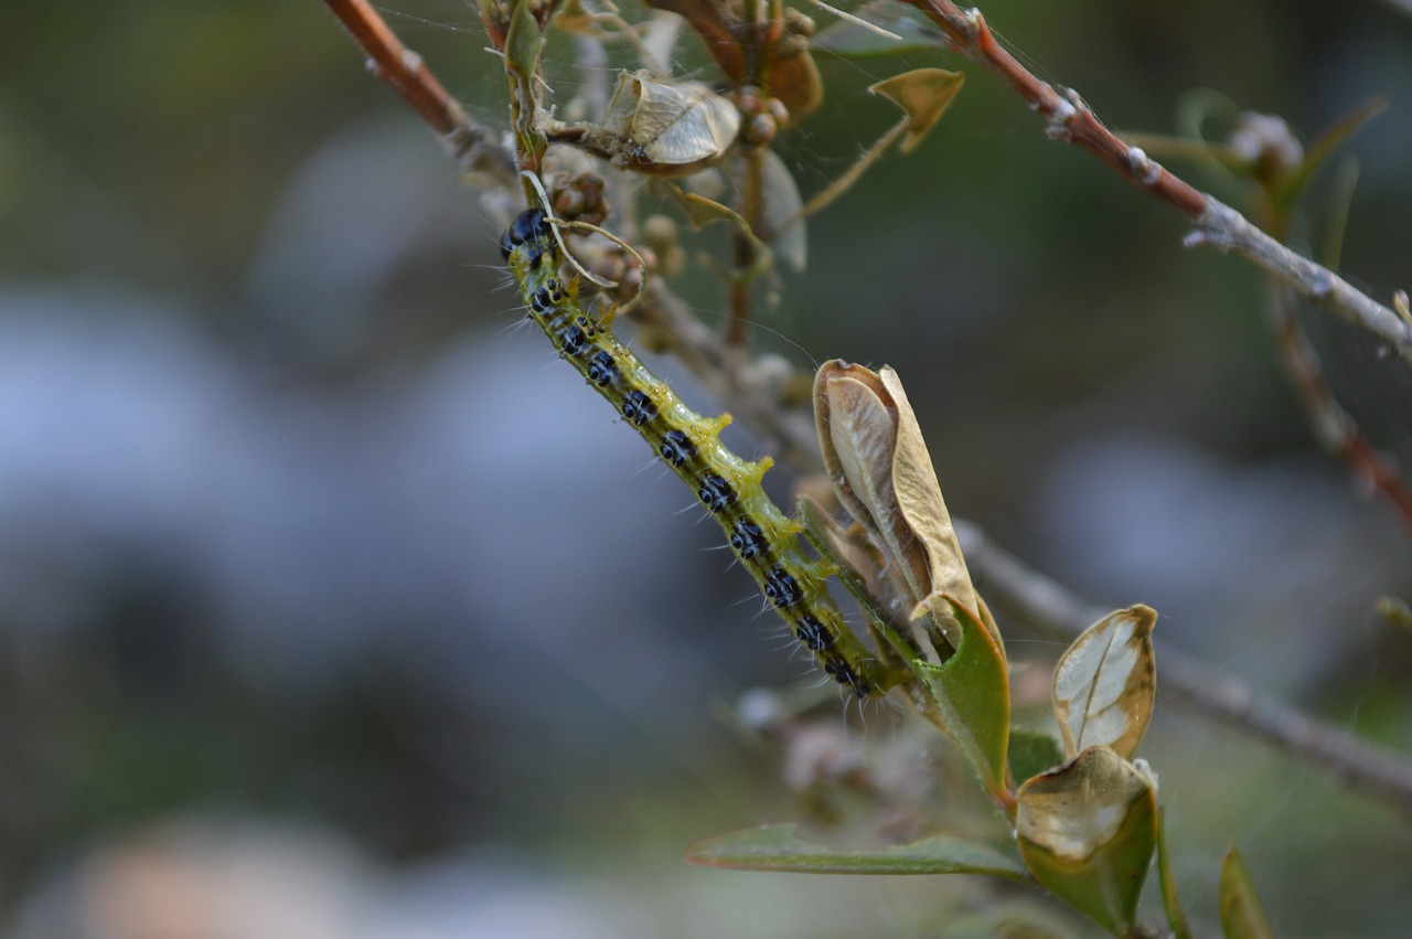
[[[1137,916],[1156,843],[1152,779],[1107,747],[1019,787],[1019,857],[1045,888],[1114,933]]]

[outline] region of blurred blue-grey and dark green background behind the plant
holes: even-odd
[[[1211,88],[1309,140],[1387,95],[1350,147],[1343,251],[1385,299],[1412,217],[1395,6],[984,13],[1124,130],[1171,131]],[[504,126],[472,7],[383,11]],[[974,883],[681,861],[802,813],[808,772],[726,714],[810,666],[692,497],[517,326],[503,222],[322,4],[21,0],[0,23],[4,935],[933,935],[984,909]],[[806,195],[894,120],[866,88],[907,65],[969,82],[918,152],[812,222],[762,345],[894,366],[956,515],[1412,751],[1412,634],[1374,611],[1412,590],[1409,528],[1312,442],[1260,275],[1182,250],[1180,216],[939,54],[820,56],[827,102],[781,145]],[[1309,243],[1330,195],[1310,193]],[[681,289],[719,315],[712,278]],[[1308,322],[1412,466],[1406,367]],[[833,746],[894,733],[829,702]],[[1236,840],[1281,935],[1405,929],[1405,819],[1176,706],[1144,755],[1200,922]]]

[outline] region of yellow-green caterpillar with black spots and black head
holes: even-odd
[[[729,414],[707,419],[692,411],[583,309],[579,278],[559,277],[563,258],[549,226],[542,209],[528,209],[500,240],[530,318],[696,493],[770,606],[823,671],[858,698],[887,690],[892,685],[890,669],[844,624],[827,593],[826,566],[805,554],[801,525],[781,513],[760,486],[774,460],[746,460],[727,449],[720,432],[730,424]]]

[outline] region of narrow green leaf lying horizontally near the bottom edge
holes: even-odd
[[[1024,881],[1014,857],[938,835],[887,849],[834,849],[799,837],[794,825],[767,825],[698,842],[686,860],[706,867],[798,874],[987,874]]]

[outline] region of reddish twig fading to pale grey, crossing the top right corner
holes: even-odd
[[[1333,271],[1279,244],[1230,206],[1171,174],[1139,147],[1120,140],[1099,121],[1075,90],[1065,89],[1060,95],[1021,65],[995,41],[979,10],[963,11],[950,0],[899,1],[926,14],[946,32],[957,52],[983,65],[1025,99],[1049,121],[1052,138],[1089,150],[1128,182],[1196,222],[1196,232],[1186,239],[1187,247],[1207,244],[1254,261],[1299,294],[1385,340],[1404,360],[1412,363],[1412,325],[1354,289]]]

